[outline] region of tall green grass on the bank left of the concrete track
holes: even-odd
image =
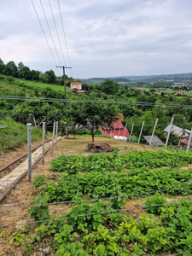
[[[0,155],[9,150],[15,150],[24,143],[27,143],[27,127],[16,123],[12,119],[0,121],[1,125],[7,125],[6,128],[0,128]],[[32,142],[38,137],[42,137],[42,130],[32,130]]]

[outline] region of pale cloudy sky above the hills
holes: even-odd
[[[58,0],[41,0],[44,12],[40,0],[0,1],[5,64],[21,61],[57,76],[55,64],[71,66],[67,75],[76,79],[192,72],[191,0],[59,1],[67,46]]]

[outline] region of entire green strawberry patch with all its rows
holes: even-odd
[[[37,221],[35,235],[30,235],[30,226],[9,240],[24,255],[49,237],[56,256],[189,256],[192,172],[183,166],[191,163],[192,154],[163,150],[61,155],[51,161],[54,180],[38,175],[33,183],[39,196],[28,212]],[[139,206],[127,208],[130,201],[139,201]],[[72,209],[51,217],[49,204],[58,203]]]

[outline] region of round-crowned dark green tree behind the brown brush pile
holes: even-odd
[[[91,100],[96,100],[96,98],[92,96]],[[98,125],[111,125],[118,119],[117,115],[117,110],[111,104],[73,103],[70,110],[70,116],[75,125],[88,127],[92,142],[94,142],[96,131],[99,129]]]

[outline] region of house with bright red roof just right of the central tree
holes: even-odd
[[[122,125],[121,119],[124,119],[122,113],[119,113],[119,118],[116,122],[113,122],[108,127],[100,127],[102,135],[113,137],[119,140],[126,140],[130,136],[128,129]]]

